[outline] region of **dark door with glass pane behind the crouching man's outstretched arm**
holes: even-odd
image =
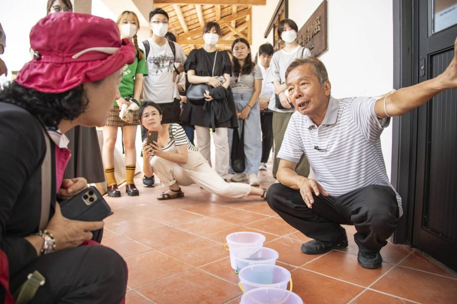
[[[457,0],[419,0],[416,83],[453,58]],[[412,245],[457,270],[457,90],[418,109]]]

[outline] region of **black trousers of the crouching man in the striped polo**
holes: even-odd
[[[312,209],[300,191],[276,183],[267,202],[288,224],[322,245],[333,244],[343,233],[340,224],[354,225],[354,240],[362,251],[379,251],[397,228],[399,210],[393,189],[368,185],[339,197],[315,196]]]

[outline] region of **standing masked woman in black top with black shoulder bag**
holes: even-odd
[[[184,62],[187,79],[190,84],[209,84],[212,89],[207,91],[205,99],[188,100],[181,115],[181,120],[194,125],[197,131],[198,148],[203,157],[211,165],[210,128],[213,129],[216,145],[216,172],[227,178],[228,174],[228,137],[227,128],[237,128],[237,117],[232,92],[228,88],[232,63],[227,52],[219,52],[216,43],[221,35],[220,26],[216,22],[208,22],[203,28],[205,46],[192,50]],[[213,71],[214,68],[214,71]],[[221,83],[217,78],[223,76]],[[216,115],[215,107],[219,107],[220,115]]]

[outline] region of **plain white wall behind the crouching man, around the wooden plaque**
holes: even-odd
[[[289,18],[299,29],[322,0],[289,0]],[[253,8],[253,49],[263,35],[278,0]],[[328,0],[329,50],[319,56],[327,67],[332,95],[379,96],[393,88],[393,8],[391,1]],[[381,135],[387,174],[390,176],[392,128]]]

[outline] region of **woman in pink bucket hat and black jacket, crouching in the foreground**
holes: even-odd
[[[122,257],[80,246],[100,242],[104,222],[67,219],[56,202],[87,187],[84,178],[63,179],[70,152],[62,134],[105,124],[136,54],[119,37],[112,20],[50,14],[31,29],[34,58],[0,92],[0,301],[24,282],[34,291],[29,303],[123,301]]]

